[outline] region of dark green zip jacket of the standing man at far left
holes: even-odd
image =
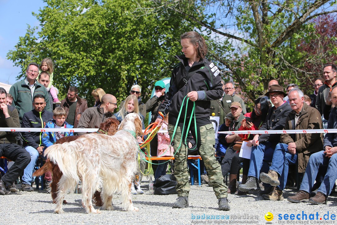
[[[13,96],[13,106],[16,106],[19,112],[20,122],[22,121],[23,114],[34,109],[33,97],[37,94],[42,94],[45,97],[45,102],[47,104],[44,110],[49,112],[52,111],[49,104],[49,94],[47,88],[36,81],[36,87],[32,96],[30,87],[25,83],[25,79],[13,84],[9,89],[9,93]]]

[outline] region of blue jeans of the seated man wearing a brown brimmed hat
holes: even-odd
[[[274,148],[271,146],[271,143],[267,141],[252,147],[248,176],[253,176],[258,179],[260,177],[263,161],[272,162]]]

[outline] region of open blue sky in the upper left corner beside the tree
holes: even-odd
[[[45,5],[42,0],[0,0],[0,82],[13,84],[17,81],[21,69],[6,59],[6,55],[14,50],[19,37],[26,34],[27,24],[39,26],[32,12],[38,12]]]

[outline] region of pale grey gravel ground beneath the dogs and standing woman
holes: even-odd
[[[21,185],[18,185],[20,187]],[[337,214],[337,197],[329,197],[327,205],[312,205],[309,203],[289,203],[286,197],[296,193],[296,189],[286,189],[284,201],[266,201],[253,191],[246,196],[230,195],[231,210],[217,210],[217,199],[213,189],[207,185],[191,186],[189,208],[172,208],[176,195],[150,195],[148,181],[142,181],[143,195],[132,195],[133,204],[139,212],[125,212],[121,206],[120,195],[115,195],[113,204],[115,210],[101,210],[101,214],[86,214],[81,203],[81,194],[67,195],[68,204],[63,205],[63,214],[55,214],[55,204],[46,191],[11,193],[0,196],[0,224],[266,224],[264,218],[267,212],[274,215],[274,224],[322,224],[334,223],[331,214]],[[279,220],[282,214],[315,214],[314,220]],[[324,215],[329,211],[329,220]],[[318,212],[318,220],[316,219]],[[210,216],[210,219],[197,219]],[[223,216],[224,219],[221,219]],[[192,219],[195,217],[195,219]],[[214,218],[212,218],[214,217]],[[218,218],[217,218],[218,217]],[[322,220],[320,220],[322,218]],[[296,219],[296,218],[295,218]],[[302,219],[302,218],[301,218]],[[268,222],[270,223],[270,222]]]

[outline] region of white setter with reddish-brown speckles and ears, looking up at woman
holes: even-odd
[[[138,211],[131,200],[131,179],[137,167],[138,142],[142,121],[128,114],[113,136],[87,134],[69,143],[54,144],[44,154],[62,172],[58,183],[56,213],[63,213],[62,202],[67,190],[74,191],[82,180],[82,203],[87,213],[99,213],[92,205],[92,195],[101,190],[103,209],[113,210],[112,195],[121,193],[127,211]]]

